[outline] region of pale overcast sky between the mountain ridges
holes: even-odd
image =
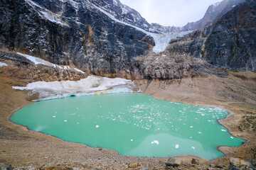
[[[120,0],[138,11],[149,23],[185,26],[203,18],[208,6],[221,0]]]

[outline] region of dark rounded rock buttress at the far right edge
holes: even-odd
[[[256,1],[234,8],[208,35],[202,54],[215,67],[256,71]]]

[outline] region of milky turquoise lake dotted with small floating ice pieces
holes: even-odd
[[[215,159],[224,155],[218,146],[244,141],[218,123],[226,115],[220,108],[121,93],[39,101],[16,111],[10,120],[62,140],[124,155]]]

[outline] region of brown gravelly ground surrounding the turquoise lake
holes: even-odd
[[[21,125],[11,123],[9,116],[18,108],[31,103],[31,98],[27,96],[26,91],[16,91],[11,86],[36,81],[36,79],[31,80],[30,74],[33,74],[33,77],[41,75],[44,77],[41,79],[46,81],[58,80],[60,77],[51,77],[54,74],[47,72],[46,74],[33,72],[28,66],[17,66],[9,60],[5,62],[9,66],[0,67],[0,162],[11,164],[17,169],[124,169],[128,164],[135,169],[142,169],[142,167],[166,169],[164,164],[166,158],[122,156],[111,149],[65,142],[57,137],[33,132]],[[68,77],[72,77],[72,73],[63,74],[61,79],[69,79]],[[225,120],[220,120],[220,123],[225,125],[233,135],[247,140],[240,147],[219,147],[226,154],[225,157],[213,161],[198,158],[201,163],[198,165],[191,165],[193,158],[191,156],[178,157],[183,160],[180,169],[206,169],[221,164],[223,169],[227,169],[230,157],[255,162],[255,72],[228,72],[227,77],[208,75],[175,81],[140,80],[136,82],[145,94],[156,98],[225,108],[230,115]]]

